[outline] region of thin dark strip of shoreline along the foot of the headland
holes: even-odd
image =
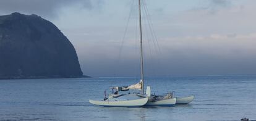
[[[70,77],[62,77],[62,76],[49,76],[49,77],[0,77],[0,80],[19,80],[19,79],[45,79],[45,78],[92,78],[87,75],[82,76],[70,76]]]

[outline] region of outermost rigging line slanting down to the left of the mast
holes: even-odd
[[[127,23],[126,23],[126,28],[124,29],[124,35],[122,36],[121,46],[119,48],[119,53],[118,53],[118,57],[117,57],[117,65],[119,65],[119,63],[120,63],[122,48],[124,46],[124,38],[126,38],[126,33],[127,33],[128,25],[129,25],[129,22],[130,22],[130,17],[132,15],[132,11],[133,11],[133,8],[134,8],[134,1],[131,1],[131,2],[132,2],[131,3],[132,5],[130,6],[130,12],[129,12],[128,20],[127,20]],[[115,73],[116,73],[116,70],[115,70]]]

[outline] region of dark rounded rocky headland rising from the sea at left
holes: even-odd
[[[38,15],[0,16],[0,78],[82,77],[74,46]]]

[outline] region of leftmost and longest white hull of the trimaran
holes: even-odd
[[[98,106],[105,107],[141,107],[145,105],[148,101],[148,98],[142,99],[133,99],[133,100],[125,100],[125,101],[93,101],[89,100],[91,104],[95,104]]]

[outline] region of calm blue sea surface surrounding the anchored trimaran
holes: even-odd
[[[146,78],[152,93],[175,91],[194,101],[175,107],[99,107],[110,86],[139,78],[0,80],[0,120],[240,120],[256,119],[256,76]]]

